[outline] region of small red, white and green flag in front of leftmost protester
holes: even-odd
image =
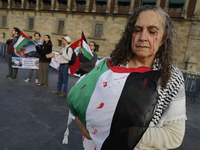
[[[21,36],[18,38],[17,42],[15,43],[14,48],[16,50],[20,50],[20,48],[22,48],[29,40],[31,39],[21,31]]]

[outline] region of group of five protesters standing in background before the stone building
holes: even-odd
[[[12,67],[12,56],[16,56],[16,51],[14,49],[14,45],[17,42],[20,36],[20,30],[14,27],[11,31],[12,36],[6,41],[8,44],[7,50],[7,62],[8,62],[8,75],[4,78],[14,81],[17,79],[18,68]],[[31,51],[34,56],[39,56],[39,69],[30,69],[29,70],[29,77],[25,80],[25,82],[31,82],[31,78],[33,76],[33,72],[35,70],[35,83],[39,86],[46,87],[48,86],[48,73],[49,73],[49,64],[51,62],[51,58],[47,58],[47,54],[52,52],[52,41],[48,34],[44,36],[44,40],[41,41],[41,34],[39,32],[34,33],[34,44],[36,48],[36,52]],[[57,90],[52,91],[52,94],[59,94],[59,97],[66,97],[67,96],[67,85],[68,85],[68,69],[69,69],[69,61],[72,58],[73,49],[70,47],[71,39],[69,36],[62,37],[62,44],[63,48],[59,51],[59,63],[58,63],[58,83],[57,83]],[[89,73],[94,67],[97,61],[98,55],[95,53],[96,43],[91,42],[89,47],[94,55],[94,57],[89,60],[87,59],[80,50],[79,52],[79,61],[81,62],[80,68],[77,69],[77,74],[81,76],[84,74]],[[63,86],[63,88],[62,88]]]

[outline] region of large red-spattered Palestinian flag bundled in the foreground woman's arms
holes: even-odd
[[[67,96],[96,150],[133,150],[149,127],[159,71],[111,66],[104,59]]]

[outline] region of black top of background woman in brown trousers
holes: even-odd
[[[36,46],[36,50],[38,54],[40,54],[40,62],[51,62],[51,58],[46,58],[46,54],[49,54],[52,52],[52,45],[51,44],[44,44]]]

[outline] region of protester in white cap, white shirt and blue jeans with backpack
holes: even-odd
[[[69,61],[71,60],[73,50],[70,47],[71,39],[69,36],[62,37],[62,44],[63,48],[59,52],[59,63],[57,70],[59,71],[58,75],[58,83],[57,83],[57,90],[52,91],[53,94],[60,94],[59,97],[66,97],[67,96],[67,85],[68,85],[68,69],[69,69]],[[64,84],[63,91],[62,84]]]

